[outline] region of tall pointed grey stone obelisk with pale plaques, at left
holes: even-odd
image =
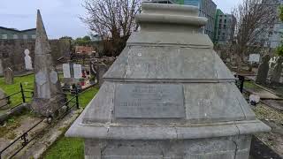
[[[34,49],[34,99],[32,109],[43,116],[50,116],[65,102],[56,67],[52,63],[50,43],[37,11],[36,40]]]

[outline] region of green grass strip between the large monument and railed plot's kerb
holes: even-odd
[[[96,95],[98,88],[93,87],[82,93],[79,98],[80,107],[85,108]],[[42,156],[44,159],[83,159],[84,141],[79,138],[59,138]]]

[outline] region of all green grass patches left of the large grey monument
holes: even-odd
[[[60,79],[62,78],[62,74],[59,74]],[[24,76],[24,77],[15,77],[14,84],[6,85],[4,83],[4,78],[0,78],[0,87],[4,90],[6,95],[11,95],[16,92],[19,92],[19,84],[22,83],[24,88],[33,88],[34,87],[34,74]],[[92,100],[92,98],[96,95],[98,91],[97,87],[92,87],[88,89],[86,92],[82,93],[79,96],[80,107],[85,108],[88,105],[88,102]],[[26,93],[26,95],[31,96]],[[21,95],[14,95],[11,97],[11,106],[22,102]],[[17,123],[10,122],[8,128],[15,128]],[[1,133],[5,133],[6,130],[0,130]],[[66,130],[64,130],[66,131]],[[4,135],[4,134],[1,134]],[[12,135],[12,134],[11,134]],[[84,142],[83,139],[76,138],[65,138],[62,136],[59,138],[43,155],[43,158],[46,159],[80,159],[84,158]]]

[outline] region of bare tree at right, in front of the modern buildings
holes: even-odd
[[[251,52],[269,48],[267,41],[278,19],[274,0],[243,0],[233,11],[237,19],[233,54],[237,56],[238,71],[243,58]]]

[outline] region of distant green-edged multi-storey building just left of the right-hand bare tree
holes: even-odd
[[[232,42],[235,32],[236,18],[233,14],[225,14],[221,10],[216,11],[214,40],[216,44]]]

